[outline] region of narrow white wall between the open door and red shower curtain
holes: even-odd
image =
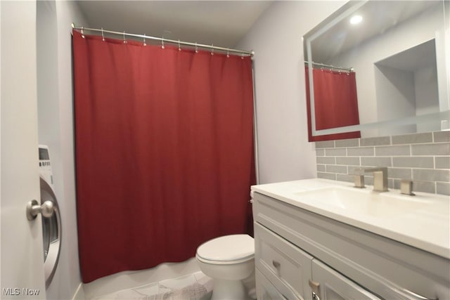
[[[72,299],[81,283],[75,202],[72,22],[86,25],[74,2],[38,1],[39,143],[49,145],[63,228],[58,268],[47,299]]]

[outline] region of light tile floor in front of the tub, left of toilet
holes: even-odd
[[[212,284],[212,278],[199,271],[96,296],[93,300],[207,300],[212,294]]]

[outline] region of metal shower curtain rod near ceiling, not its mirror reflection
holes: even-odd
[[[75,30],[80,30],[80,32],[82,34],[83,34],[84,30],[89,30],[91,32],[101,32],[102,35],[104,33],[108,33],[108,34],[119,34],[119,35],[122,35],[122,37],[125,37],[125,36],[127,36],[127,37],[139,37],[139,38],[143,39],[144,42],[146,41],[146,39],[153,39],[153,40],[156,40],[156,41],[161,41],[162,43],[167,42],[167,43],[171,43],[171,44],[192,46],[192,47],[195,47],[195,48],[214,49],[214,50],[224,51],[226,53],[238,53],[238,54],[242,54],[243,56],[254,56],[255,55],[255,51],[244,51],[244,50],[238,50],[238,49],[232,49],[232,48],[218,47],[218,46],[214,46],[214,45],[205,45],[205,44],[191,43],[191,42],[188,42],[188,41],[179,41],[179,40],[174,40],[174,39],[165,39],[165,38],[161,38],[161,37],[151,37],[151,36],[148,36],[146,34],[131,34],[131,33],[126,33],[126,32],[116,32],[116,31],[96,29],[96,28],[76,27],[75,23],[72,23],[72,28],[75,29]]]

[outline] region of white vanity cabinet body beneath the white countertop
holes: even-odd
[[[450,299],[447,258],[255,190],[253,218],[258,299]]]

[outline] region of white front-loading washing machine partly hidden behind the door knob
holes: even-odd
[[[39,183],[41,204],[46,201],[51,201],[53,204],[53,214],[41,216],[42,237],[44,239],[45,285],[48,288],[58,266],[62,231],[58,200],[53,190],[53,172],[51,171],[49,147],[46,145],[39,145]]]

